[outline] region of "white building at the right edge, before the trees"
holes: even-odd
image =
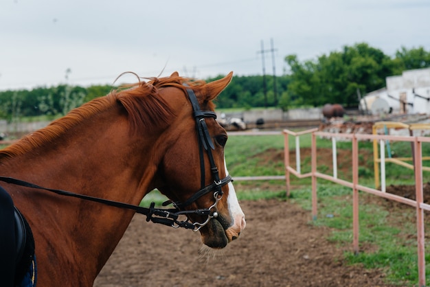
[[[368,114],[425,113],[430,115],[430,68],[404,71],[385,79],[386,88],[368,93],[359,108]]]

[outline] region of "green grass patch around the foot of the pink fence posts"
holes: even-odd
[[[310,187],[291,193],[293,203],[311,210]],[[365,268],[380,268],[387,283],[414,286],[418,282],[415,209],[392,212],[382,205],[365,203],[372,195],[360,193],[359,243],[367,246],[358,255],[352,252],[352,192],[348,187],[323,184],[318,187],[318,216],[312,224],[332,229],[328,240],[347,250],[349,264],[363,264]],[[400,224],[399,224],[400,223]],[[369,247],[370,246],[370,247]],[[429,249],[429,248],[427,248]],[[429,252],[427,250],[426,252]],[[426,256],[429,262],[430,255]],[[427,285],[430,279],[427,279]]]

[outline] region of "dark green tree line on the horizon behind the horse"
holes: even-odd
[[[367,43],[357,43],[315,59],[301,61],[292,54],[284,60],[288,69],[282,76],[234,76],[218,97],[218,108],[265,106],[287,110],[327,103],[354,107],[359,102],[358,94],[365,95],[385,87],[387,76],[430,67],[430,51],[423,47],[401,47],[394,56],[388,56]],[[210,82],[222,77],[206,80]],[[109,85],[72,87],[61,84],[32,90],[1,91],[0,118],[12,120],[38,115],[65,115],[72,108],[106,95],[113,88]]]

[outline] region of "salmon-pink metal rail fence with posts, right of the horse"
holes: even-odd
[[[301,174],[299,169],[292,168],[290,165],[288,137],[294,136],[299,137],[300,135],[306,135],[311,133],[312,145],[311,145],[311,171],[306,174]],[[332,137],[332,138],[348,138],[352,142],[352,182],[337,179],[337,176],[329,174],[323,174],[317,172],[317,136],[321,137]],[[430,211],[430,205],[423,203],[422,195],[422,143],[430,143],[429,137],[411,137],[411,136],[390,136],[390,135],[361,135],[361,134],[338,134],[338,133],[323,133],[317,130],[305,130],[301,133],[294,133],[291,130],[284,130],[284,160],[286,170],[286,187],[287,194],[291,190],[290,185],[290,174],[294,174],[299,178],[311,176],[312,178],[312,215],[313,218],[317,218],[317,179],[325,179],[332,181],[339,185],[352,188],[352,232],[353,232],[353,249],[355,253],[359,252],[359,191],[367,192],[375,196],[381,196],[389,200],[395,200],[399,203],[404,203],[411,207],[416,208],[416,229],[417,229],[417,243],[418,243],[418,285],[425,286],[425,231],[424,231],[424,211]],[[416,200],[409,198],[403,198],[394,194],[381,192],[371,187],[366,187],[359,184],[359,140],[392,140],[392,141],[409,141],[414,146],[414,174],[416,184]],[[297,143],[297,140],[296,140]],[[296,144],[296,152],[299,146]]]

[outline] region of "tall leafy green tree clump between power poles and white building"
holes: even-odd
[[[357,89],[362,93],[380,89],[391,75],[390,58],[383,51],[359,43],[344,46],[317,60],[299,62],[297,56],[286,56],[291,68],[288,93],[291,100],[302,97],[304,104],[322,106],[339,103],[357,105]]]

